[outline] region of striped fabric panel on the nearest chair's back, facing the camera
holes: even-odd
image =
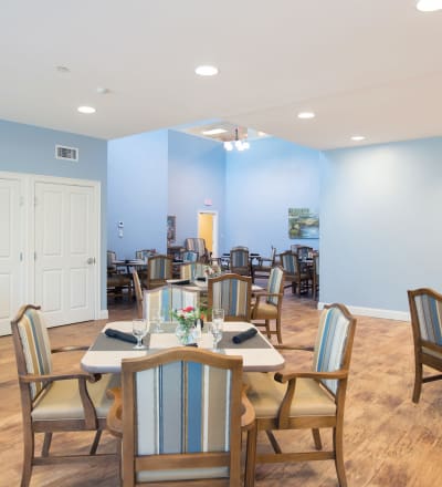
[[[196,362],[137,372],[137,454],[229,450],[230,387],[230,371]]]

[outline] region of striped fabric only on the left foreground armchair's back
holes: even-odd
[[[42,314],[38,310],[29,309],[18,322],[18,329],[28,373],[52,373],[51,345]],[[43,383],[32,382],[30,387],[34,400],[43,390]]]

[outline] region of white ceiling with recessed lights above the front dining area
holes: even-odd
[[[0,118],[102,138],[219,118],[317,148],[442,135],[442,11],[414,3],[1,0]]]

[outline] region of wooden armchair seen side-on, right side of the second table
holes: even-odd
[[[257,327],[265,327],[267,336],[276,334],[277,342],[282,343],[281,332],[281,311],[284,297],[284,270],[277,266],[271,270],[266,292],[255,294],[256,301],[252,305],[252,322],[255,320],[264,320],[264,323],[255,323]],[[270,321],[275,320],[274,330],[270,328]]]

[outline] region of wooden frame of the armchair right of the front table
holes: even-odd
[[[280,463],[280,462],[309,462],[309,460],[335,460],[337,477],[340,487],[347,486],[345,466],[344,466],[344,453],[343,453],[343,426],[344,426],[344,406],[347,391],[347,380],[349,373],[349,364],[351,358],[352,341],[355,336],[356,319],[349,313],[347,308],[343,304],[332,304],[325,307],[338,308],[341,313],[349,320],[348,334],[346,341],[346,349],[343,358],[343,365],[339,370],[334,372],[292,372],[290,370],[284,372],[277,372],[274,375],[274,380],[287,384],[287,388],[284,398],[281,403],[280,411],[275,417],[257,417],[256,427],[251,431],[250,439],[251,444],[255,445],[255,448],[249,453],[250,462],[248,468],[250,468],[250,475],[253,475],[254,463]],[[277,346],[278,350],[311,350],[311,349],[294,349]],[[338,380],[337,393],[334,394],[330,390],[324,386],[335,400],[336,414],[329,415],[311,415],[311,416],[290,416],[292,400],[295,395],[296,380],[297,379],[313,379],[319,380]],[[253,401],[252,405],[253,405]],[[301,452],[301,453],[283,453],[278,442],[276,441],[273,431],[277,429],[312,429],[313,438],[315,443],[316,452]],[[322,439],[319,428],[333,428],[333,449],[329,452],[322,450]],[[269,441],[273,447],[274,453],[256,453],[256,435],[259,431],[265,431]]]

